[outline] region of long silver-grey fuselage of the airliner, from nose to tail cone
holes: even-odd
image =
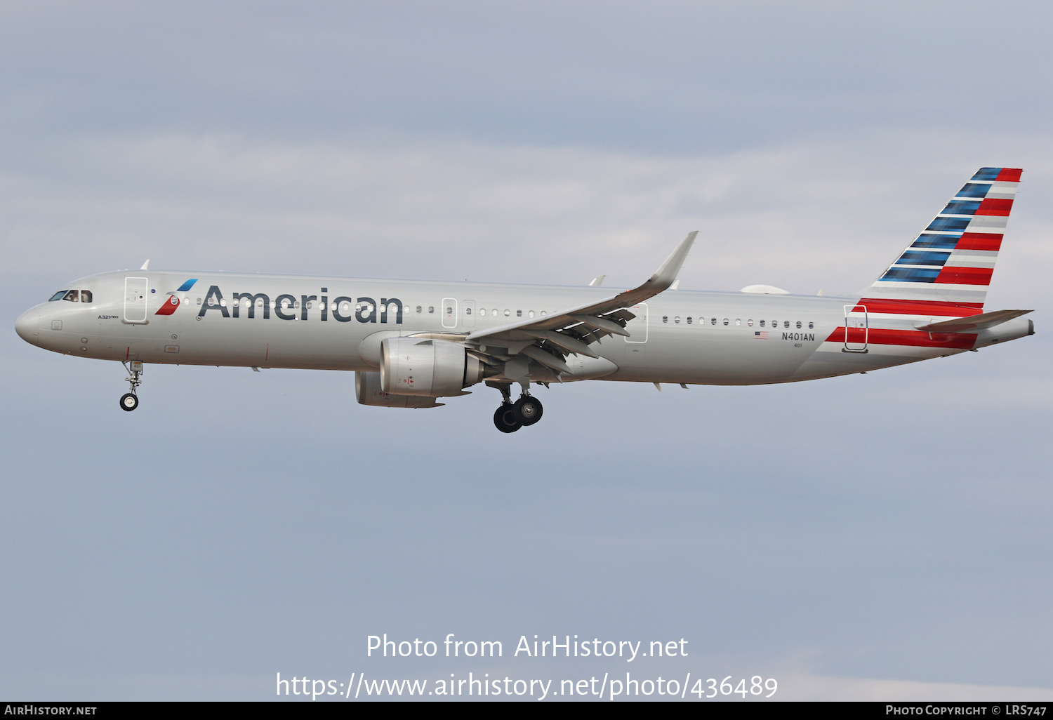
[[[178,292],[191,279],[196,282]],[[102,360],[339,371],[377,369],[385,337],[466,334],[612,293],[148,271],[93,275],[68,287],[88,291],[91,301],[41,303],[19,318],[19,335],[46,349]],[[564,379],[728,385],[811,380],[952,355],[1032,332],[1020,318],[989,331],[923,333],[915,328],[946,317],[868,313],[859,301],[667,291],[630,308],[637,316],[625,327],[630,337],[607,337],[593,346],[602,362],[571,356],[576,372]],[[171,314],[159,314],[162,307]],[[847,324],[854,328],[848,343]]]

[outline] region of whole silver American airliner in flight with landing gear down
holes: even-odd
[[[148,363],[355,372],[359,403],[437,407],[496,388],[494,424],[541,419],[533,384],[714,385],[869,373],[1034,335],[1031,311],[984,312],[1021,171],[982,167],[868,287],[680,291],[697,231],[642,284],[375,280],[148,269],[91,275],[23,313],[25,341],[124,364],[139,406]],[[512,386],[520,395],[512,401]]]

